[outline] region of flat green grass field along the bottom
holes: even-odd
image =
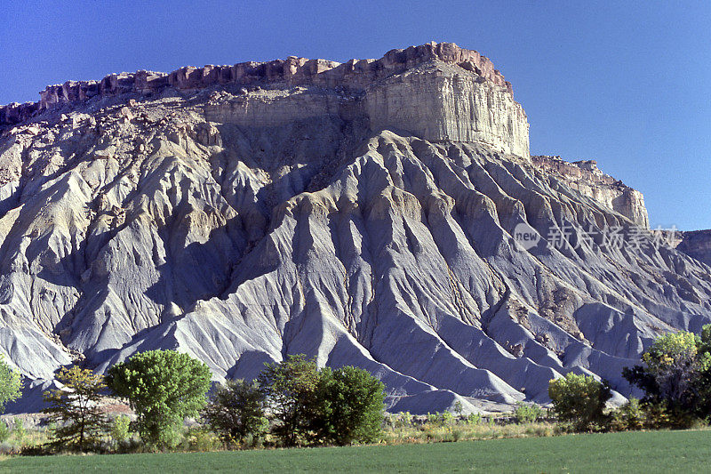
[[[13,457],[0,471],[708,472],[711,431],[624,432],[429,445]]]

